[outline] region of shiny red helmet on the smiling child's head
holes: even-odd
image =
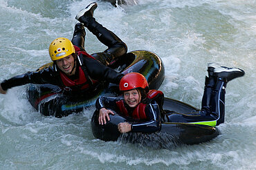
[[[144,75],[140,73],[128,73],[120,80],[120,91],[130,91],[136,88],[148,88],[149,84]]]

